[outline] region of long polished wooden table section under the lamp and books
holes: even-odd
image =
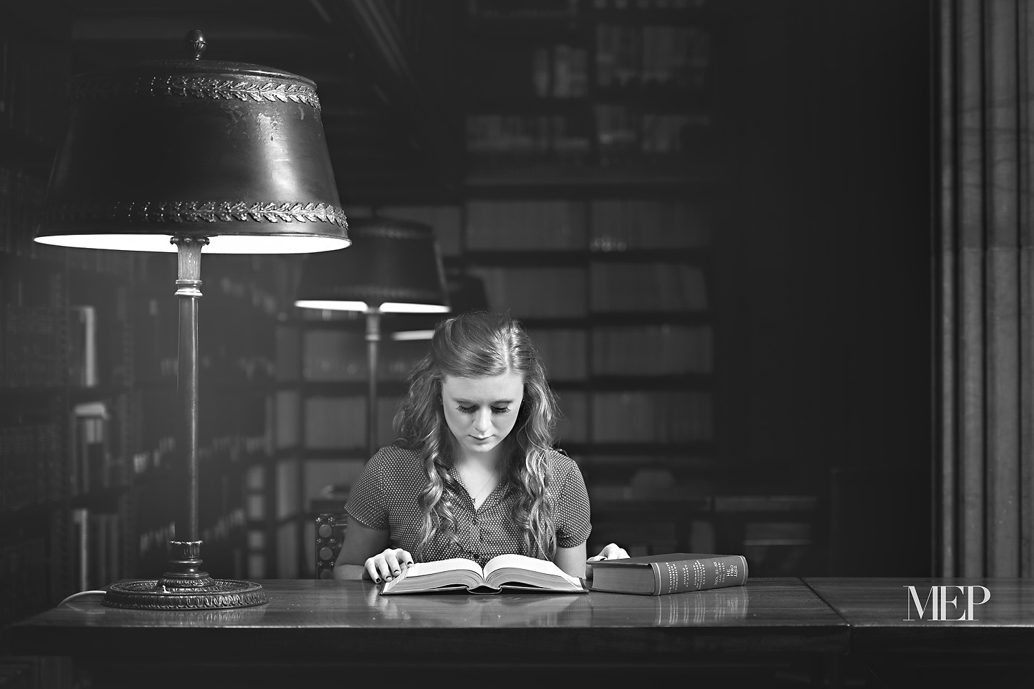
[[[848,651],[847,622],[797,578],[659,597],[379,596],[367,582],[261,584],[268,604],[217,612],[124,610],[83,597],[14,625],[11,645],[70,656],[98,687],[388,682],[399,671],[407,683],[456,672],[478,686],[517,677],[683,683],[691,669],[701,681],[766,686],[772,672],[821,674]]]

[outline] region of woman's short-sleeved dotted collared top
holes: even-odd
[[[581,471],[574,460],[555,450],[549,455],[548,467],[551,479],[546,492],[553,504],[556,544],[580,545],[591,531],[588,493]],[[462,486],[455,467],[450,466],[449,471]],[[458,542],[438,535],[421,558],[416,553],[420,532],[418,499],[426,481],[415,452],[394,445],[384,447],[366,463],[348,494],[345,511],[371,529],[388,531],[391,547],[408,551],[418,562],[466,558],[484,566],[504,553],[526,555],[523,534],[511,511],[517,491],[500,482],[477,509],[466,491],[447,494],[456,520]]]

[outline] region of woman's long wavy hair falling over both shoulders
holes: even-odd
[[[443,380],[508,371],[523,377],[524,399],[503,441],[508,451],[501,480],[518,492],[513,519],[523,527],[524,555],[552,559],[555,554],[556,528],[546,488],[559,413],[556,398],[521,324],[506,314],[476,311],[438,321],[430,350],[409,374],[409,392],[394,419],[397,442],[417,453],[427,475],[415,553],[420,559],[436,536],[457,540],[451,496],[463,489],[448,469],[459,445],[446,422]]]

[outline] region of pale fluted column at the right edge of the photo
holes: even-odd
[[[936,573],[1032,576],[1034,3],[937,10]]]

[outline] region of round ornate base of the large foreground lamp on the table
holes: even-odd
[[[100,601],[111,607],[138,610],[213,610],[268,603],[263,588],[252,582],[213,580],[201,569],[200,540],[170,541],[171,570],[161,578],[119,582]],[[177,557],[178,556],[178,557]]]

